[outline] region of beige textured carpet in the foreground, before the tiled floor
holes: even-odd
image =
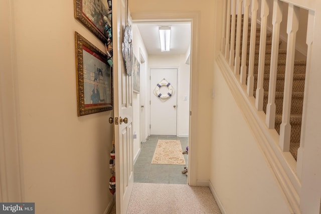
[[[134,183],[127,208],[133,213],[220,214],[209,187],[188,184]]]

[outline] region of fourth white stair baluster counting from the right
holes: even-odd
[[[264,99],[264,67],[265,67],[265,49],[266,49],[266,23],[269,15],[268,0],[261,2],[261,33],[260,33],[260,49],[259,49],[259,66],[257,72],[257,88],[255,96],[255,107],[258,111],[263,111]]]

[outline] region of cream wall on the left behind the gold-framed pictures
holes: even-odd
[[[22,201],[35,202],[37,213],[104,213],[112,203],[113,111],[77,116],[75,31],[102,51],[104,45],[74,19],[73,1],[7,3],[0,13],[11,14],[13,56],[0,52],[12,59],[17,132],[7,133],[20,146]]]

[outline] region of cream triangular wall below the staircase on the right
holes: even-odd
[[[246,118],[214,68],[210,180],[226,213],[290,213]]]

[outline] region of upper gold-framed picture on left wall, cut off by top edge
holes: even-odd
[[[104,44],[111,38],[111,0],[74,0],[75,18]]]

